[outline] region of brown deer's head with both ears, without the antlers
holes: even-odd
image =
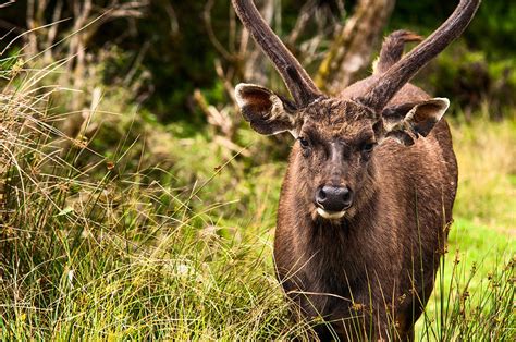
[[[449,101],[431,99],[391,107],[381,113],[352,99],[324,98],[297,109],[271,90],[249,84],[236,87],[244,118],[261,134],[290,132],[295,138],[300,201],[314,218],[352,216],[370,197],[374,149],[388,138],[410,146],[427,136]]]

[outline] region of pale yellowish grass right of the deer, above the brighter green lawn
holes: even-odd
[[[503,122],[477,119],[453,130],[459,163],[454,213],[477,225],[516,234],[516,110]]]

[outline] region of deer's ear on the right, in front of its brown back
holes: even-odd
[[[433,98],[418,103],[386,108],[382,112],[383,137],[392,137],[409,146],[419,136],[427,136],[450,107],[447,98]]]

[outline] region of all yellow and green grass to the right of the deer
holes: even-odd
[[[514,340],[516,120],[453,122],[459,167],[455,222],[421,340]],[[458,321],[457,321],[458,320]]]

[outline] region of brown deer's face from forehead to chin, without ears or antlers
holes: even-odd
[[[303,111],[295,151],[312,213],[337,220],[356,211],[373,170],[374,115],[351,100],[324,99]],[[353,210],[355,209],[355,210]],[[312,215],[312,217],[315,217]]]

